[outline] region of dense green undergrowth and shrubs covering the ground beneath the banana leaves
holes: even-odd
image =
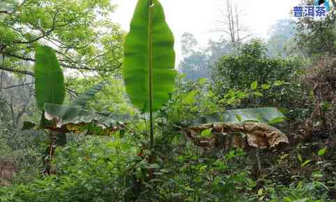
[[[153,150],[144,115],[137,114],[135,120],[143,121],[132,122],[125,133],[69,134],[68,144],[56,150],[55,175],[40,178],[39,153],[47,146],[40,134],[28,141],[40,152],[22,150],[31,150],[36,160],[19,160],[31,165],[17,167],[13,185],[0,189],[0,201],[335,201],[335,150],[325,144],[328,137],[305,141],[289,134],[285,148],[204,150],[181,127],[197,114],[231,107],[232,99],[213,102],[220,98],[204,79],[185,83],[181,77],[178,83],[155,118]],[[235,103],[252,99],[256,91],[245,91]],[[295,120],[277,126],[286,130]]]

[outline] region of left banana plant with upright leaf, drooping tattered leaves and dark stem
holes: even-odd
[[[47,148],[45,158],[45,173],[52,173],[50,158],[54,155],[56,146],[66,144],[66,133],[84,129],[92,134],[112,134],[119,130],[116,127],[117,121],[111,117],[101,116],[94,112],[85,111],[86,102],[91,100],[96,93],[100,92],[105,83],[93,86],[86,93],[79,95],[79,98],[70,106],[64,106],[66,96],[63,71],[56,58],[52,47],[38,45],[35,54],[36,63],[34,66],[36,102],[42,111],[39,127],[49,130],[50,145]],[[120,117],[114,116],[120,119]],[[22,130],[29,130],[36,124],[25,122]],[[83,132],[80,130],[79,132]]]

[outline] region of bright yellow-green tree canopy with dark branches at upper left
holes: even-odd
[[[123,33],[108,19],[115,8],[108,0],[2,1],[0,70],[33,75],[34,47],[46,44],[63,68],[109,74],[122,57]]]

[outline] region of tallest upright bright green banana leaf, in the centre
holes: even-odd
[[[130,100],[143,111],[157,111],[169,100],[177,75],[174,36],[158,0],[138,1],[124,52],[123,79]]]

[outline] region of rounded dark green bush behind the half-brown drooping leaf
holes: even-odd
[[[247,100],[242,107],[266,107],[275,104],[287,107],[287,103],[295,102],[302,94],[300,85],[295,83],[300,72],[300,61],[270,59],[266,51],[263,42],[252,40],[240,47],[238,56],[229,55],[220,59],[213,70],[214,92],[223,98],[230,89],[249,89],[254,81],[268,85],[282,81],[286,85],[264,91],[264,96],[254,101]]]

